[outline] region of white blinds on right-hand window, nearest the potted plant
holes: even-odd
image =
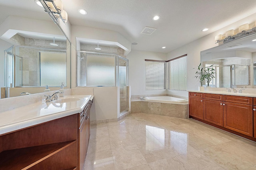
[[[169,89],[187,90],[187,55],[168,61]]]

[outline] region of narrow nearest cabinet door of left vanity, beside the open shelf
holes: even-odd
[[[84,118],[82,124],[80,126],[80,141],[79,141],[79,148],[80,149],[80,170],[84,168],[84,161],[86,157],[86,119]]]

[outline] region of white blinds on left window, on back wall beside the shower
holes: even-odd
[[[146,90],[165,89],[165,61],[146,61]]]

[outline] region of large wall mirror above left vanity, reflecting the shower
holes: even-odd
[[[0,2],[1,96],[14,97],[20,96],[21,92],[44,92],[46,84],[52,86],[51,91],[58,90],[62,82],[65,84],[64,88],[70,88],[71,43],[65,33],[52,21],[48,13],[44,12],[44,8],[34,1],[20,0],[18,3],[23,3],[24,6],[11,1]],[[31,8],[26,8],[27,6]],[[58,46],[52,46],[50,43]],[[41,62],[44,53],[53,57],[56,55],[56,58],[57,55],[62,55],[62,60],[59,60],[60,57],[58,60],[52,58],[47,62],[54,64],[43,64]],[[7,56],[5,65],[4,55]],[[49,67],[42,68],[43,65]],[[51,79],[47,80],[43,69],[51,72],[48,74]],[[5,75],[4,70],[7,70]],[[4,87],[7,92],[3,92]]]

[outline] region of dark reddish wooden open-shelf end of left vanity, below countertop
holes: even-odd
[[[77,114],[0,135],[0,170],[76,170]]]

